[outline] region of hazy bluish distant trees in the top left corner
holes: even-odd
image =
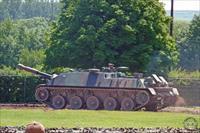
[[[8,17],[13,20],[33,17],[53,20],[60,9],[61,4],[58,0],[1,0],[0,21]]]

